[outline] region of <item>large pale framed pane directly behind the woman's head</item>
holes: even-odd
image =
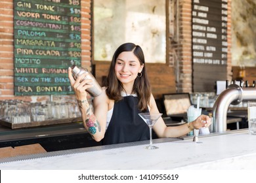
[[[147,63],[166,62],[165,0],[93,1],[93,58],[111,61],[124,42],[139,44]]]

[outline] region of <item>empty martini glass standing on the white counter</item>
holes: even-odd
[[[148,127],[150,127],[150,144],[149,144],[149,146],[146,146],[146,149],[158,148],[158,147],[152,145],[153,144],[152,128],[153,128],[153,125],[156,124],[156,121],[158,121],[158,119],[160,118],[161,115],[162,115],[162,113],[152,113],[152,114],[150,114],[150,112],[139,113],[139,116],[144,120],[144,122],[148,125]]]

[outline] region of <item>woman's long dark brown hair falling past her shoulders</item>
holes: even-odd
[[[138,108],[141,111],[145,111],[150,103],[150,82],[146,73],[146,65],[143,51],[140,46],[135,45],[131,42],[121,44],[121,46],[119,46],[114,53],[110,64],[110,69],[108,71],[108,76],[106,78],[106,95],[108,95],[108,97],[114,101],[120,101],[121,99],[123,99],[123,97],[121,96],[121,92],[122,90],[124,90],[123,85],[117,79],[115,74],[116,59],[119,54],[121,54],[121,52],[133,52],[133,54],[135,54],[135,56],[139,59],[140,65],[144,64],[141,72],[141,77],[137,77],[135,79],[135,83],[133,84],[133,92],[137,93],[139,99]]]

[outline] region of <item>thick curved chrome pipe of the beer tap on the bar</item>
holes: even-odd
[[[230,104],[238,105],[242,101],[256,100],[256,88],[242,88],[230,84],[217,97],[213,105],[213,132],[226,131],[226,115]]]

